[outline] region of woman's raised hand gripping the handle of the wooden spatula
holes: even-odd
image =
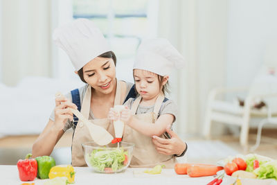
[[[74,103],[71,103],[64,96],[55,98],[55,122],[54,127],[62,130],[66,121],[73,121],[73,113],[69,108],[77,109]]]

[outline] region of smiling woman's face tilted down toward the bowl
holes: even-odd
[[[116,67],[111,58],[94,58],[83,67],[84,80],[96,91],[110,94],[116,87]]]

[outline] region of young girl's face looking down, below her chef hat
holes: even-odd
[[[136,91],[145,100],[150,100],[160,94],[158,75],[142,69],[134,69]]]

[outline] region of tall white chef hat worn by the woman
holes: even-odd
[[[99,28],[89,19],[76,19],[56,28],[53,40],[69,55],[76,71],[102,53],[111,51]]]

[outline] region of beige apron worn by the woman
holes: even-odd
[[[114,105],[122,105],[126,94],[126,83],[123,81],[118,82],[116,80],[116,97],[114,99]],[[84,99],[82,100],[81,113],[85,118],[89,118],[89,110],[91,105],[91,86],[87,87]],[[112,136],[114,134],[114,125],[110,123],[108,118],[92,119],[91,123],[104,127]],[[89,130],[82,121],[78,121],[75,127],[75,132],[72,140],[72,166],[87,166],[84,161],[84,155],[82,152],[82,143],[93,141],[89,134]]]

